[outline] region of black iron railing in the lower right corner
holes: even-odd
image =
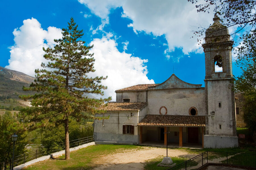
[[[167,170],[196,170],[208,163],[256,167],[256,154],[207,151]]]

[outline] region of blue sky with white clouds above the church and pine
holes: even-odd
[[[204,87],[205,56],[192,30],[213,23],[212,13],[197,13],[183,1],[3,1],[0,7],[0,66],[34,76],[42,47],[53,47],[73,17],[82,40],[94,44],[96,72],[108,75],[106,96],[135,84],[161,83],[175,73]],[[235,28],[230,28],[230,33]],[[233,58],[233,74],[240,69]]]

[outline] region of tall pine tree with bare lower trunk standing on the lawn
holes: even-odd
[[[24,90],[33,90],[35,95],[22,96],[22,99],[32,99],[32,107],[28,111],[30,121],[38,124],[55,123],[64,124],[65,127],[65,159],[70,158],[69,154],[69,120],[81,118],[104,111],[96,110],[97,107],[107,99],[92,99],[86,94],[103,95],[106,86],[100,83],[106,77],[89,77],[87,73],[94,72],[93,54],[89,50],[93,46],[85,46],[80,38],[82,30],[77,29],[78,25],[71,18],[68,27],[62,29],[62,39],[54,40],[54,48],[43,48],[44,58],[50,60],[42,67],[48,69],[37,69],[35,83]]]

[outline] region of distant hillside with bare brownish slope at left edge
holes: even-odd
[[[34,92],[24,92],[23,86],[28,87],[34,81],[34,77],[24,73],[6,69],[0,66],[0,96],[18,99],[22,94],[33,94]]]

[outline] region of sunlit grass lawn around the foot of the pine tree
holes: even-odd
[[[143,146],[135,145],[93,145],[70,152],[70,160],[64,160],[65,155],[57,159],[46,160],[29,165],[26,170],[86,170],[96,167],[93,160],[102,155],[123,152],[124,150],[140,150]]]

